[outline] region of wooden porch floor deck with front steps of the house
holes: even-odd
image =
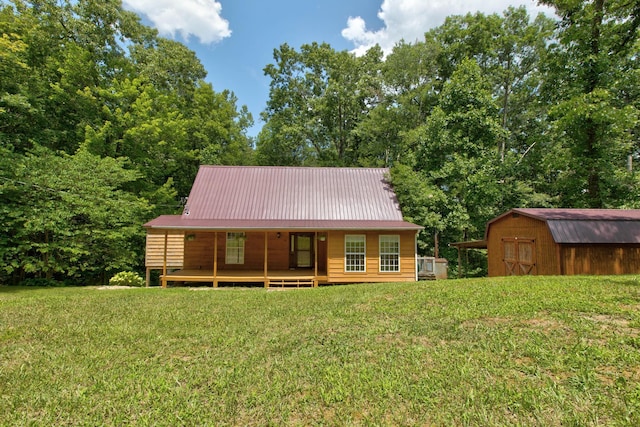
[[[167,282],[211,282],[213,287],[218,283],[264,283],[266,288],[279,286],[318,286],[318,283],[327,282],[326,272],[314,270],[273,270],[268,271],[265,278],[261,270],[222,270],[214,276],[213,270],[176,270],[160,275],[163,287]]]

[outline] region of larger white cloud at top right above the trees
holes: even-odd
[[[442,25],[447,16],[468,12],[501,14],[510,5],[526,6],[531,16],[538,12],[553,15],[552,9],[537,6],[535,0],[384,0],[378,11],[378,18],[384,23],[381,29],[368,30],[364,19],[349,17],[342,37],[354,44],[356,54],[363,54],[376,44],[389,53],[400,40],[422,40],[424,33]]]

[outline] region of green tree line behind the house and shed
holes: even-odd
[[[512,207],[640,207],[640,5],[542,3],[558,19],[451,16],[388,55],[283,44],[253,140],[121,1],[0,2],[0,280],[141,268],[141,225],[181,211],[200,164],[389,167],[421,252],[437,235],[450,261]]]

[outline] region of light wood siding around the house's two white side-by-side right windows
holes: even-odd
[[[345,271],[345,235],[366,236],[366,271]],[[400,236],[400,271],[381,272],[379,236]],[[410,282],[416,280],[416,253],[414,231],[332,231],[328,233],[327,276],[329,283]]]

